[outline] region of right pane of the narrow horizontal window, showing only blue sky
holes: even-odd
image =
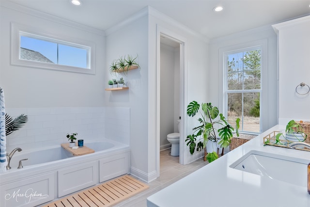
[[[87,50],[70,47],[66,45],[58,46],[58,64],[87,68]]]

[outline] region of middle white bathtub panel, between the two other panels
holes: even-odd
[[[82,163],[58,171],[58,197],[98,183],[98,161]]]

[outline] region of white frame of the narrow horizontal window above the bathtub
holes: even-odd
[[[62,64],[43,63],[31,60],[20,59],[20,36],[27,36],[48,42],[59,43],[75,48],[86,49],[87,51],[87,68],[68,66]],[[38,29],[23,26],[17,23],[11,23],[11,64],[28,66],[42,69],[60,70],[76,73],[95,74],[95,44],[84,40],[72,40],[65,36],[57,36],[55,34],[46,34],[39,32]]]

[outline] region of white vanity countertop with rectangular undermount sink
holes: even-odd
[[[147,198],[148,207],[309,207],[310,152],[263,145],[275,126]],[[200,180],[200,181],[198,181]]]

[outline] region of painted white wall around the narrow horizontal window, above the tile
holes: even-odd
[[[8,8],[10,7],[10,8]],[[10,2],[1,2],[0,84],[6,108],[101,107],[104,105],[105,36],[95,30]],[[96,45],[96,74],[81,74],[10,64],[11,22]]]

